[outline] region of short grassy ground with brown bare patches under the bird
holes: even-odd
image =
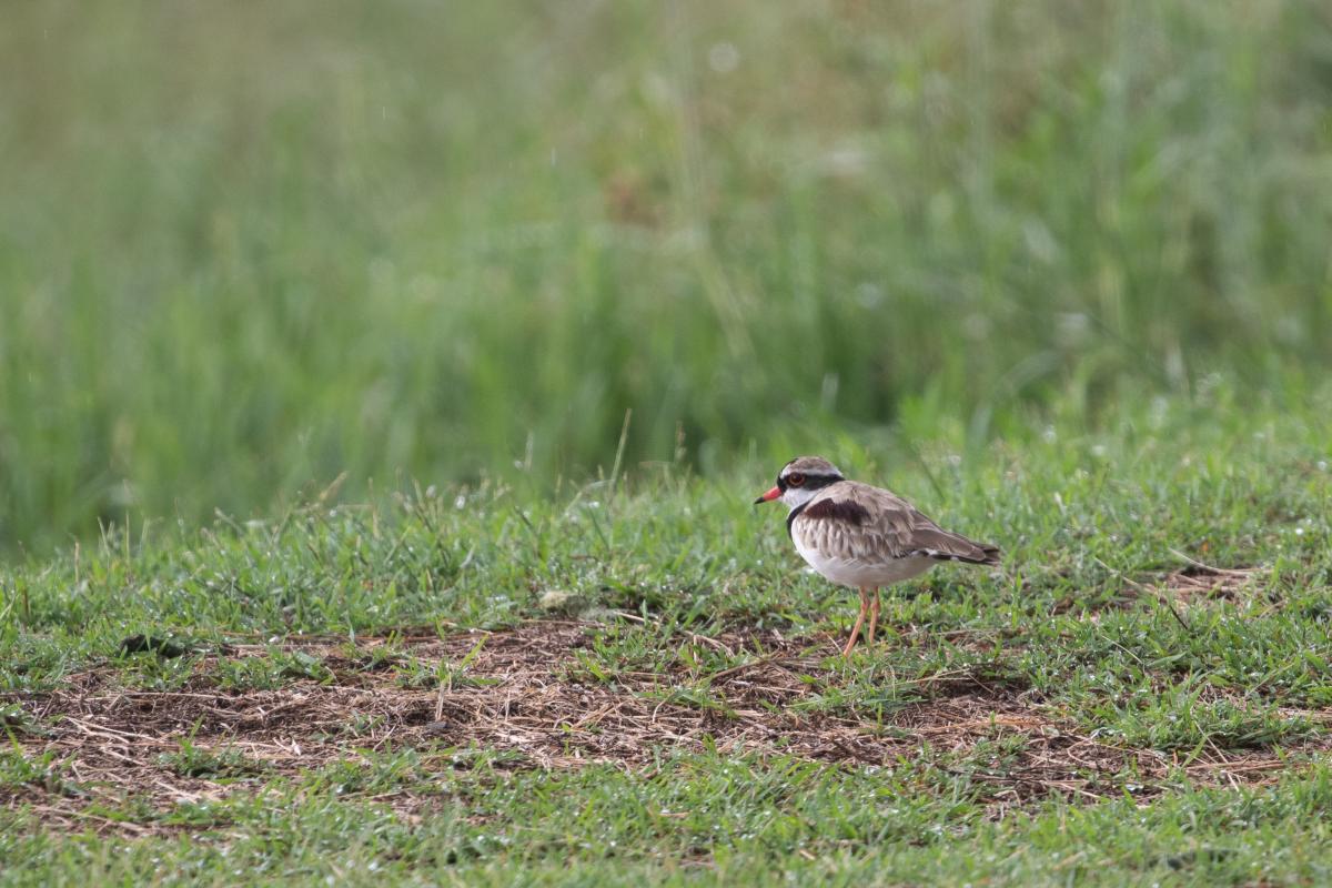
[[[847,664],[851,596],[749,505],[775,466],[7,568],[4,879],[1319,883],[1328,394],[1212,398],[848,462],[1006,560]]]

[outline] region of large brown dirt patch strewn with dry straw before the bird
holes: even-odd
[[[397,656],[457,664],[464,678],[406,687],[393,659],[377,659],[385,639],[310,639],[286,647],[321,659],[332,680],[297,680],[272,691],[220,691],[218,658],[204,658],[177,691],[132,690],[113,667],[75,676],[69,687],[17,699],[44,735],[19,735],[29,756],[48,756],[60,780],[0,787],[0,804],[33,804],[48,820],[73,825],[89,800],[149,796],[155,809],[216,799],[246,774],[296,775],[332,762],[364,762],[365,751],[478,747],[503,751],[509,767],[570,768],[587,763],[646,767],[662,748],[707,746],[791,755],[850,766],[894,767],[927,748],[940,767],[958,762],[994,787],[996,811],[1060,795],[1096,800],[1126,787],[1151,796],[1180,771],[1197,784],[1273,779],[1289,767],[1268,751],[1211,750],[1191,762],[1103,743],[1052,715],[1030,692],[954,672],[915,684],[920,699],[870,716],[811,706],[846,682],[836,639],[787,639],[775,631],[733,632],[697,643],[745,652],[743,664],[711,676],[621,671],[610,682],[579,680],[577,652],[605,627],[546,620],[503,632],[448,639],[398,639]],[[478,640],[484,636],[484,644]],[[230,659],[269,648],[238,646]],[[699,698],[701,679],[706,694]],[[886,684],[888,679],[886,679]],[[685,692],[687,691],[687,694]],[[982,746],[988,744],[988,746]],[[182,768],[185,747],[225,767]],[[991,748],[994,750],[991,752]],[[950,754],[955,754],[950,758]],[[1132,785],[1126,775],[1132,775]],[[250,783],[250,787],[254,784]],[[377,796],[414,809],[410,791]],[[80,827],[87,825],[83,817]],[[108,828],[133,832],[133,824]]]

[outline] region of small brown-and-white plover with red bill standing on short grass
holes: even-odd
[[[834,583],[860,591],[860,615],[843,656],[851,655],[866,614],[870,626],[864,640],[874,643],[883,586],[918,576],[939,562],[999,563],[995,546],[943,530],[906,499],[847,481],[821,457],[797,457],[782,466],[777,486],[754,505],[774,499],[790,509],[786,530],[801,558]]]

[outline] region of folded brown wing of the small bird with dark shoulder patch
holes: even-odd
[[[943,530],[911,503],[879,487],[840,481],[819,493],[794,518],[801,535],[834,558],[883,562],[934,558],[998,564],[995,546]]]

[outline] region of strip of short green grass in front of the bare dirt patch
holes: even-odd
[[[999,823],[976,816],[964,781],[938,785],[910,766],[855,774],[682,756],[649,779],[610,767],[523,777],[486,767],[462,775],[418,772],[402,762],[389,767],[378,788],[428,781],[440,795],[425,823],[340,800],[329,792],[338,775],[318,774],[261,795],[182,805],[169,820],[180,828],[221,827],[236,836],[230,840],[107,843],[89,833],[57,840],[27,833],[21,817],[8,817],[0,851],[25,871],[11,868],[5,879],[1216,885],[1319,884],[1332,865],[1321,816],[1332,804],[1325,767],[1261,792],[1183,792],[1146,811],[1122,800]],[[478,815],[484,824],[469,823]],[[963,853],[948,853],[959,845]]]

